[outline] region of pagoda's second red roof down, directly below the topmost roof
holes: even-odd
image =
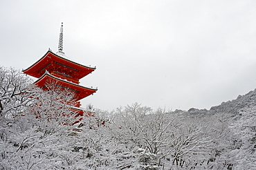
[[[35,81],[34,84],[44,89],[48,82],[54,82],[55,86],[67,89],[75,93],[75,101],[82,100],[84,97],[92,95],[93,93],[98,91],[98,88],[80,86],[73,82],[68,82],[66,79],[55,77],[54,75],[48,73],[48,71],[46,71],[46,73],[44,73],[42,77],[39,77],[39,79],[37,79],[37,81]]]

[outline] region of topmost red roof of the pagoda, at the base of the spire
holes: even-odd
[[[81,79],[96,69],[96,67],[84,66],[73,62],[70,59],[67,59],[64,53],[53,53],[51,49],[49,49],[42,58],[32,66],[23,70],[23,72],[27,75],[39,78],[44,75],[45,70],[50,70],[50,68],[53,67],[53,64],[73,71],[73,75],[75,75],[77,79]]]

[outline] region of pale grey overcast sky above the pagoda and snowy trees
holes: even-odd
[[[66,56],[97,67],[83,107],[209,109],[256,88],[255,0],[1,0],[0,65],[57,52],[62,22]]]

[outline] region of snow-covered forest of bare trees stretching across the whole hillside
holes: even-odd
[[[0,169],[256,169],[256,91],[210,110],[89,104],[82,120],[72,96],[0,66]]]

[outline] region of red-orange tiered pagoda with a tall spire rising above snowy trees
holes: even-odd
[[[80,100],[93,95],[98,88],[80,86],[80,79],[92,73],[96,68],[84,66],[68,59],[63,52],[63,23],[60,28],[60,39],[57,53],[49,48],[46,54],[35,64],[23,70],[26,75],[37,78],[35,85],[48,90],[48,82],[54,86],[63,88],[74,93],[75,106],[73,108],[83,115],[84,110],[80,108]]]

